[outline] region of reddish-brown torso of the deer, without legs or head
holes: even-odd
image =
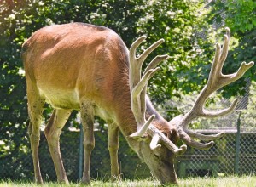
[[[83,98],[115,108],[125,95],[130,103],[128,49],[106,27],[46,26],[24,43],[22,51],[27,84],[32,82],[56,108],[79,110]]]

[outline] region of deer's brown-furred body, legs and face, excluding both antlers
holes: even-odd
[[[38,137],[39,120],[35,119],[40,119],[42,115],[44,100],[55,108],[45,134],[60,182],[68,182],[58,142],[61,128],[67,119],[58,116],[68,117],[70,111],[81,109],[84,125],[84,183],[90,183],[94,115],[101,116],[112,124],[109,134],[117,136],[117,129],[120,128],[131,148],[146,161],[162,183],[177,183],[172,159],[168,154],[170,150],[163,148],[160,157],[156,157],[147,141],[140,142],[129,137],[136,132],[137,123],[131,111],[128,49],[115,32],[106,27],[79,23],[47,26],[36,31],[24,43],[22,58],[32,120],[33,161],[39,183],[42,183],[42,178],[38,164],[38,143],[35,144],[38,141],[35,137]],[[32,106],[36,106],[35,109]],[[148,115],[156,115],[154,126],[176,142],[176,130],[169,127],[168,122],[154,110],[149,99],[147,107]],[[117,142],[113,141],[117,140],[110,137],[109,151],[111,155],[116,155]],[[115,165],[116,159],[112,158]],[[112,166],[112,171],[119,178],[118,166]],[[160,175],[157,171],[166,175]]]

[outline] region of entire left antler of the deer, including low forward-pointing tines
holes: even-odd
[[[131,89],[131,110],[135,116],[137,122],[137,132],[132,133],[131,137],[142,137],[144,133],[148,133],[152,137],[150,148],[152,150],[160,149],[160,144],[164,144],[169,150],[172,150],[173,153],[182,154],[187,146],[183,145],[181,148],[177,148],[171,140],[167,139],[166,136],[161,133],[156,127],[151,125],[151,122],[154,120],[154,115],[150,116],[148,120],[145,118],[146,112],[146,91],[148,81],[151,77],[154,76],[156,71],[160,70],[159,65],[160,61],[166,59],[168,55],[158,55],[156,56],[149,64],[146,70],[142,73],[143,61],[148,57],[155,48],[157,48],[162,42],[163,39],[160,39],[157,42],[154,42],[148,49],[146,49],[143,54],[138,58],[136,57],[137,47],[146,39],[146,37],[139,37],[135,42],[132,43],[130,48],[130,89]]]

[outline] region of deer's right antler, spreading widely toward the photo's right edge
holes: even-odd
[[[226,28],[226,35],[224,35],[223,48],[221,48],[218,43],[216,44],[216,53],[212,61],[212,68],[210,71],[207,85],[201,90],[201,93],[198,95],[197,99],[195,100],[195,104],[193,105],[192,109],[188,113],[186,113],[184,116],[177,116],[171,121],[171,122],[177,122],[176,124],[177,124],[178,133],[180,135],[180,139],[182,139],[185,144],[188,144],[198,149],[209,149],[210,147],[212,147],[213,141],[207,144],[202,144],[200,142],[195,141],[193,138],[201,139],[201,140],[213,140],[213,139],[218,139],[222,137],[224,133],[218,133],[213,135],[204,135],[201,133],[195,133],[188,129],[189,123],[192,122],[192,120],[194,120],[197,117],[203,116],[203,117],[213,118],[218,116],[224,116],[229,114],[231,111],[234,111],[234,109],[236,108],[238,99],[235,99],[229,108],[224,109],[222,111],[207,111],[204,109],[204,105],[207,98],[210,96],[210,94],[212,94],[219,88],[222,88],[227,84],[230,84],[231,82],[235,82],[237,79],[242,77],[243,74],[254,64],[253,62],[250,62],[248,64],[245,62],[242,62],[239,70],[236,71],[236,73],[233,73],[230,75],[224,75],[222,73],[222,68],[224,65],[224,61],[228,55],[229,42],[230,42],[230,29]]]

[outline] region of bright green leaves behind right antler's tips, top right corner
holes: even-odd
[[[235,72],[242,61],[256,61],[256,2],[253,0],[212,1],[208,21],[213,26],[229,26],[233,35],[233,46],[224,65],[224,72]],[[223,29],[223,28],[220,28]],[[256,67],[244,77],[224,89],[224,97],[244,94],[247,78],[255,80]]]

